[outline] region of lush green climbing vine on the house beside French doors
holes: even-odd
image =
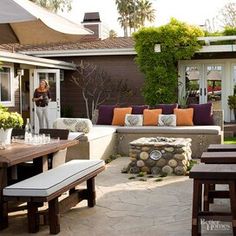
[[[201,46],[200,28],[176,19],[161,27],[143,28],[134,34],[136,63],[145,75],[143,95],[149,105],[177,101],[178,61],[190,59]],[[155,44],[161,52],[154,51]]]

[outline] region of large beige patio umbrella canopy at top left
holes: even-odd
[[[78,41],[84,29],[28,0],[1,0],[0,44],[44,44]]]

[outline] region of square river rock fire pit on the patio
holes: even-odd
[[[140,138],[129,144],[129,173],[185,175],[191,159],[190,138]]]

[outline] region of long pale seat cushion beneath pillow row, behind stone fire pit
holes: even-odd
[[[176,127],[160,127],[160,126],[142,126],[142,127],[118,127],[117,133],[133,133],[133,134],[217,134],[221,132],[220,126],[176,126]]]

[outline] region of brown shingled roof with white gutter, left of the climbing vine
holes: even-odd
[[[91,56],[91,55],[134,55],[134,40],[131,37],[93,39],[77,43],[47,45],[0,45],[0,50],[18,52],[38,57]]]

